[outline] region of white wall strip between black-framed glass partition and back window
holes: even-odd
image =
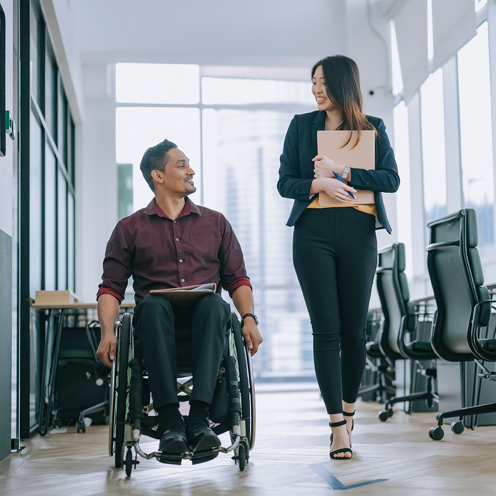
[[[76,294],[94,302],[117,222],[115,65],[83,65],[84,124],[76,133]]]

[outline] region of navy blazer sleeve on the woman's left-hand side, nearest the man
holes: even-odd
[[[288,127],[279,167],[277,190],[284,198],[309,200],[313,179],[302,179],[298,150],[298,116],[295,116]]]

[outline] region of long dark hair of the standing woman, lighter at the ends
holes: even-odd
[[[343,146],[346,146],[351,141],[353,131],[357,131],[357,140],[353,148],[360,141],[363,130],[372,129],[377,135],[375,127],[367,121],[363,111],[360,74],[356,62],[344,55],[325,57],[315,62],[311,68],[312,79],[319,65],[322,67],[322,73],[324,74],[327,98],[343,113],[343,123],[338,129],[350,130],[348,141]]]

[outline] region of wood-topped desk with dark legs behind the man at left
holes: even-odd
[[[59,346],[62,334],[64,318],[73,314],[75,318],[83,318],[88,324],[88,312],[93,313],[92,317],[96,320],[96,303],[59,303],[59,304],[32,304],[32,308],[44,312],[48,316],[48,325],[45,330],[45,348],[43,358],[43,372],[40,390],[39,405],[39,427],[40,435],[45,435],[50,426],[50,417],[52,415],[52,403],[54,397],[55,374],[59,359]],[[130,311],[134,308],[134,303],[123,303],[119,309],[119,316],[124,311]],[[90,330],[87,326],[88,340],[92,345]],[[92,348],[94,346],[92,345]],[[95,355],[95,361],[97,357]],[[100,405],[98,405],[100,406]]]

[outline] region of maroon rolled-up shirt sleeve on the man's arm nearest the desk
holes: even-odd
[[[131,250],[127,241],[123,224],[118,222],[115,227],[103,261],[102,282],[99,285],[96,299],[101,295],[110,294],[119,300],[124,300],[127,281],[131,275]]]

